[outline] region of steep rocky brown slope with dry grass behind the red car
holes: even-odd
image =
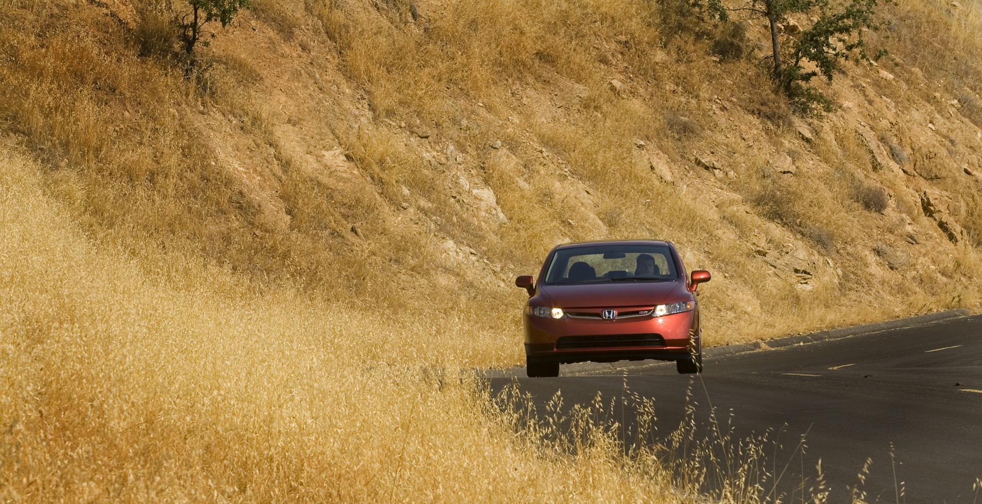
[[[762,26],[686,9],[257,1],[188,74],[163,6],[15,2],[2,127],[94,236],[480,314],[496,364],[512,280],[569,240],[675,241],[714,274],[710,344],[978,307],[977,3],[885,8],[892,58],[817,83],[823,117],[770,90]]]

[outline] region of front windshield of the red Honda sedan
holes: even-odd
[[[679,279],[666,245],[589,245],[558,250],[546,271],[546,283],[665,281]]]

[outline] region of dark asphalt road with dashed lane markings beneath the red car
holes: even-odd
[[[853,487],[867,502],[975,502],[973,483],[982,478],[982,316],[706,358],[704,366],[701,377],[678,375],[666,364],[589,377],[565,376],[574,368],[564,366],[560,378],[490,381],[497,391],[518,379],[537,411],[557,390],[570,408],[589,405],[597,393],[605,403],[621,397],[627,382],[632,393],[654,400],[656,442],[679,427],[690,390],[702,431],[710,404],[737,437],[771,430],[767,464],[784,474],[775,491],[783,502],[800,499],[795,486],[815,478],[819,459],[829,502],[850,502]],[[634,422],[629,407],[616,416],[627,426]],[[872,464],[860,482],[867,459]]]

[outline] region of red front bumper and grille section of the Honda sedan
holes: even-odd
[[[627,309],[626,309],[627,310]],[[624,320],[524,314],[525,354],[560,363],[691,359],[700,351],[698,312]]]

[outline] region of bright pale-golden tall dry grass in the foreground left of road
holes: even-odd
[[[513,433],[458,377],[463,327],[257,294],[180,255],[193,279],[148,272],[0,156],[0,499],[667,498],[607,438],[567,457]]]

